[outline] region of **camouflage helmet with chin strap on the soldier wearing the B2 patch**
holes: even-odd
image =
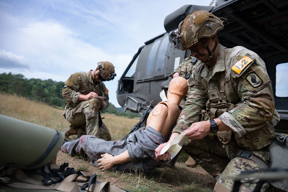
[[[204,62],[210,61],[214,57],[214,51],[219,43],[215,41],[214,48],[210,51],[206,42],[202,38],[213,38],[217,32],[224,29],[223,21],[212,13],[198,10],[188,15],[178,27],[177,42],[181,44],[181,50],[189,49],[190,47],[202,42],[208,52],[208,59]]]

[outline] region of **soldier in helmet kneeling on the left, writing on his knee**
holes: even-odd
[[[103,81],[113,80],[116,73],[113,64],[108,61],[101,61],[97,65],[95,70],[76,72],[65,81],[62,90],[62,96],[66,99],[63,115],[71,124],[64,132],[66,139],[78,133],[78,136],[93,135],[111,141],[99,111],[109,105],[108,89]]]

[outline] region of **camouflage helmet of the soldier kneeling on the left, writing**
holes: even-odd
[[[101,61],[97,63],[99,69],[98,78],[101,81],[110,81],[113,80],[116,76],[114,65],[109,61]],[[97,75],[97,74],[96,74]]]

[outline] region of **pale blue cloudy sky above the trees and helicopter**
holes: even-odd
[[[211,0],[0,0],[0,73],[65,82],[110,61],[109,102],[118,80],[144,42],[165,32],[165,17],[183,5]]]

